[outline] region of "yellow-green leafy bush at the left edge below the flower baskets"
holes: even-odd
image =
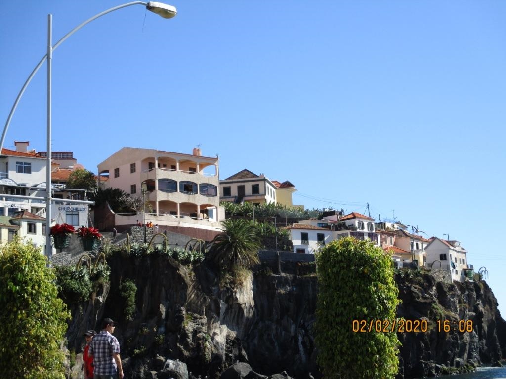
[[[60,349],[70,314],[46,258],[19,239],[0,252],[0,377],[63,379]]]

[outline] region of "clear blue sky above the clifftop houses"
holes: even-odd
[[[0,3],[0,119],[53,40],[117,1]],[[458,240],[506,315],[506,3],[354,1],[133,6],[53,59],[53,150],[96,172],[123,146],[220,157],[290,180],[293,200]],[[46,150],[46,66],[7,134]]]

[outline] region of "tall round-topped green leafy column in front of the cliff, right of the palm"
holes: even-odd
[[[316,255],[315,342],[325,378],[392,378],[398,369],[395,331],[354,332],[353,320],[394,320],[398,289],[390,257],[366,241],[333,241]]]

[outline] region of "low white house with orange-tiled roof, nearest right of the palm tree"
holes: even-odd
[[[292,223],[283,229],[290,233],[294,253],[314,254],[320,246],[331,241],[332,232],[319,226]]]

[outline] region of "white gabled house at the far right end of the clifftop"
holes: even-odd
[[[452,280],[464,281],[468,269],[467,250],[458,241],[445,241],[433,237],[425,248],[427,268],[444,270],[451,273]]]

